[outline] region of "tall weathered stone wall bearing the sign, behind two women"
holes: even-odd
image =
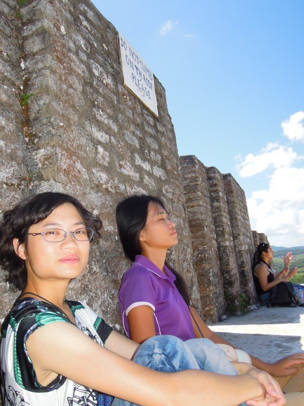
[[[114,208],[131,193],[159,195],[179,234],[169,260],[200,309],[162,84],[155,78],[160,112],[155,118],[123,87],[117,31],[88,0],[29,0],[19,11],[21,23],[15,2],[0,4],[0,74],[7,86],[0,90],[2,210],[23,195],[57,190],[77,196],[101,217],[102,238],[92,246],[91,265],[70,285],[68,297],[86,301],[119,328],[117,292],[129,264],[117,238]],[[23,93],[34,93],[25,109],[18,100],[21,85]],[[1,288],[3,318],[17,292],[4,282]],[[10,297],[3,293],[8,289]]]

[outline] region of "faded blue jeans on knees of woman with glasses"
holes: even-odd
[[[159,335],[145,341],[135,354],[134,361],[162,372],[178,372],[184,369],[202,369],[223,375],[237,375],[223,350],[207,339],[185,342],[172,335]],[[115,398],[111,406],[136,406]],[[191,402],[189,406],[195,406]],[[242,406],[246,406],[242,403]]]

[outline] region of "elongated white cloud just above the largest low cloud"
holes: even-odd
[[[247,178],[270,167],[288,167],[294,160],[299,158],[291,147],[270,143],[262,149],[259,155],[246,155],[243,162],[237,165],[237,170],[242,178]]]

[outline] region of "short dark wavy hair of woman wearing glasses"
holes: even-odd
[[[54,209],[65,203],[71,203],[79,211],[86,227],[92,228],[100,236],[102,222],[94,217],[79,200],[69,194],[45,192],[35,194],[21,200],[12,210],[4,213],[0,222],[0,265],[8,272],[7,282],[17,289],[24,289],[27,283],[25,260],[21,259],[14,250],[13,240],[19,244],[27,244],[27,232],[31,225],[47,218]]]

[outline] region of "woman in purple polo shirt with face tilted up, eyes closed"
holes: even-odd
[[[132,261],[119,291],[127,335],[138,343],[161,334],[182,340],[204,336],[236,349],[204,323],[191,306],[183,278],[166,262],[167,250],[177,244],[177,232],[163,201],[155,196],[129,196],[118,204],[116,219],[125,255]],[[282,387],[304,371],[304,354],[293,354],[272,364],[250,358],[257,368],[280,377],[276,379]]]

